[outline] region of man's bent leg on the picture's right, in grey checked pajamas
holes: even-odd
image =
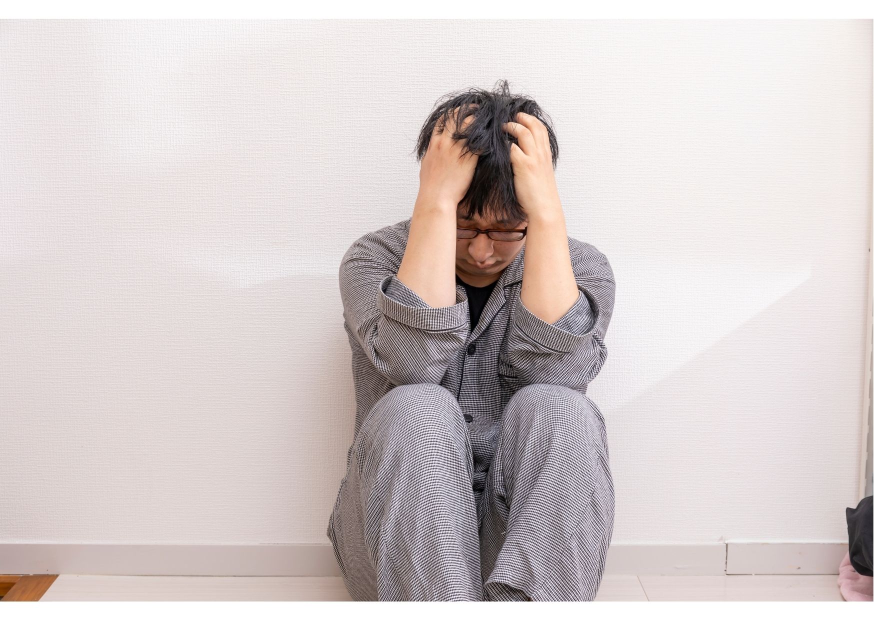
[[[607,432],[569,387],[523,387],[504,410],[486,479],[487,600],[591,601],[613,535]]]

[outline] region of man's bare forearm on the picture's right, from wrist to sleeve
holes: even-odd
[[[522,303],[531,314],[552,324],[571,309],[580,295],[561,206],[530,213],[526,239]]]

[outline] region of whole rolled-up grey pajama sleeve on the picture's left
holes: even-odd
[[[432,308],[378,261],[344,258],[340,296],[347,331],[395,385],[440,384],[470,330],[468,298]]]

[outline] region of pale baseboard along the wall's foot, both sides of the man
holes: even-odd
[[[837,575],[846,542],[621,545],[611,575]],[[2,575],[340,575],[330,544],[0,544]]]

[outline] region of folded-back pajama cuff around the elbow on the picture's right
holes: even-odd
[[[545,346],[556,352],[571,352],[585,338],[590,338],[594,331],[596,317],[594,304],[590,303],[586,291],[579,288],[579,297],[570,309],[555,323],[546,323],[542,318],[531,313],[522,303],[520,294],[516,302],[514,323],[528,338],[538,345]]]

